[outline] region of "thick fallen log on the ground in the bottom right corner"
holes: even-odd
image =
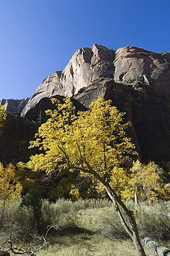
[[[142,243],[147,246],[150,251],[158,256],[170,256],[170,249],[158,244],[157,242],[151,240],[149,237],[144,237],[142,239]]]

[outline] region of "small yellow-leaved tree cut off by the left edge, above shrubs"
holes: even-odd
[[[15,177],[14,165],[8,164],[6,167],[4,167],[3,164],[0,163],[0,199],[3,203],[0,228],[2,228],[3,225],[6,203],[20,196],[21,190],[22,186]]]

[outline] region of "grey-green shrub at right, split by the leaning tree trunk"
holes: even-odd
[[[141,237],[149,236],[157,241],[170,239],[169,202],[156,201],[149,206],[141,203],[136,208],[131,201],[128,202],[128,206],[134,211]],[[114,209],[108,208],[103,211],[101,223],[101,232],[105,236],[121,239],[128,237]]]

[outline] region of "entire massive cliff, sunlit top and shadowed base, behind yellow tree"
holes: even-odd
[[[54,108],[50,97],[62,101],[66,95],[80,110],[87,109],[99,96],[111,99],[132,122],[128,133],[142,160],[169,165],[170,53],[133,46],[114,51],[97,44],[91,49],[79,49],[63,71],[55,71],[44,79],[21,115],[44,122],[44,110]]]

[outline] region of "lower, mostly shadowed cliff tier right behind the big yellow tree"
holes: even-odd
[[[170,86],[170,84],[169,84]],[[148,159],[168,164],[170,159],[170,95],[157,92],[140,83],[115,83],[113,79],[99,78],[75,95],[87,107],[98,96],[108,100],[126,113],[132,122],[129,135],[133,138],[143,161]],[[140,90],[137,90],[140,89]]]

